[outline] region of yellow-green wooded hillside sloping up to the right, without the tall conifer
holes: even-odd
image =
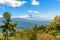
[[[4,37],[1,34],[0,40]],[[47,25],[38,26],[35,24],[33,29],[16,31],[14,36],[9,36],[9,40],[60,40],[60,16]]]

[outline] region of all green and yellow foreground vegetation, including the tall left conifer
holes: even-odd
[[[17,23],[11,21],[11,15],[9,12],[5,12],[2,33],[0,35],[0,40],[60,40],[60,16],[56,16],[55,19],[47,24],[38,26],[35,24],[34,28],[27,30],[19,30],[15,32],[14,27]],[[15,33],[15,35],[14,35]],[[8,38],[9,37],[9,38]]]

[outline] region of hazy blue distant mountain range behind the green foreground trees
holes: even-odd
[[[3,18],[0,18],[0,25],[2,25]],[[45,25],[50,23],[51,21],[36,21],[36,20],[27,20],[21,18],[12,18],[13,22],[18,22],[17,29],[29,29],[33,28],[35,24],[37,25]]]

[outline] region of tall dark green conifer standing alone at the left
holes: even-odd
[[[5,37],[4,40],[8,40],[9,35],[13,36],[16,32],[15,27],[17,25],[17,22],[11,21],[11,14],[9,12],[4,12],[3,14],[4,21],[2,21],[4,24],[0,26],[2,28],[2,33]]]

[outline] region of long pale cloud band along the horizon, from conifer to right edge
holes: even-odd
[[[22,19],[28,19],[28,20],[41,20],[41,21],[47,21],[47,20],[53,20],[55,16],[60,15],[59,13],[33,13],[33,11],[29,10],[30,14],[27,15],[20,15],[20,16],[15,16],[12,18],[22,18]]]

